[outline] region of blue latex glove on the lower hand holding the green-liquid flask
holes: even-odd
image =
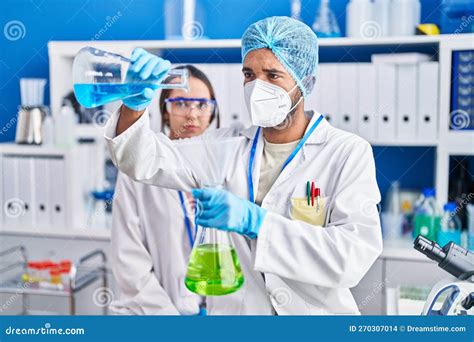
[[[225,190],[194,189],[197,202],[196,222],[256,238],[267,211]]]

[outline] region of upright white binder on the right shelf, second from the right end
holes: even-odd
[[[413,141],[416,137],[417,65],[397,65],[397,139]]]

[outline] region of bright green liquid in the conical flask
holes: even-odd
[[[203,296],[237,291],[244,283],[244,276],[235,249],[219,244],[194,248],[184,282],[190,291]]]

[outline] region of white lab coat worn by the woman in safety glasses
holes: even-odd
[[[119,173],[112,218],[112,270],[120,293],[111,311],[198,314],[202,298],[184,285],[191,244],[178,192]]]

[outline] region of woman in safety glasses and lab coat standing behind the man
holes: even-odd
[[[219,125],[215,94],[206,75],[189,73],[190,91],[163,90],[162,131],[170,139],[201,134]],[[187,100],[193,98],[193,100]],[[192,196],[186,192],[135,182],[119,173],[113,204],[112,269],[120,297],[117,314],[196,315],[203,298],[184,285],[194,233]],[[202,312],[202,311],[201,311]]]

